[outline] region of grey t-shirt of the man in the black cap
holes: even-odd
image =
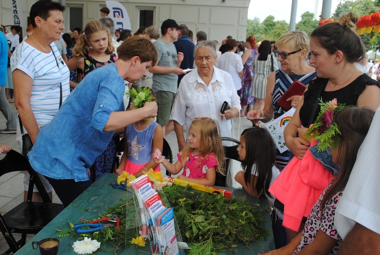
[[[168,44],[161,38],[157,39],[154,45],[158,53],[158,66],[177,68],[177,50],[173,43]],[[153,74],[152,88],[154,91],[169,91],[177,93],[176,74]]]

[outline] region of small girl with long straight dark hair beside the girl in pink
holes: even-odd
[[[276,145],[271,134],[265,128],[252,127],[245,129],[240,136],[238,147],[242,168],[235,175],[235,180],[252,197],[260,197],[264,194],[272,207],[275,197],[268,189],[280,174],[276,161]],[[272,211],[272,229],[276,247],[286,244],[284,240],[285,229],[282,227],[282,213],[274,208]],[[285,242],[285,243],[284,243]]]

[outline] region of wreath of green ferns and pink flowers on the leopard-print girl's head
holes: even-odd
[[[318,140],[318,152],[325,151],[329,148],[336,148],[339,140],[334,139],[340,134],[339,127],[335,122],[335,114],[343,110],[346,103],[338,103],[336,98],[328,102],[321,102],[321,112],[318,114],[315,123],[308,129],[305,136],[308,140]]]

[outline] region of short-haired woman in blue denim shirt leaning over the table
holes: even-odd
[[[127,39],[115,63],[96,68],[74,89],[56,115],[45,125],[28,154],[31,166],[53,186],[64,206],[87,187],[88,171],[107,147],[116,130],[157,116],[156,102],[125,112],[124,80],[136,82],[157,62],[149,40]],[[86,98],[86,100],[83,100]]]

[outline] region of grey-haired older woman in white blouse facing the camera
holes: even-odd
[[[186,142],[183,126],[188,131],[194,118],[209,117],[217,121],[220,136],[232,137],[232,118],[241,109],[234,81],[228,72],[214,66],[216,50],[211,41],[202,41],[194,48],[194,59],[197,68],[185,75],[179,84],[170,119],[174,121],[178,150]],[[223,102],[231,106],[224,114],[220,113]]]

